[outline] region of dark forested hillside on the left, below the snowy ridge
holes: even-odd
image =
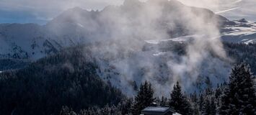
[[[97,65],[79,48],[45,57],[27,68],[0,74],[0,114],[59,114],[118,104],[124,97],[96,73]]]

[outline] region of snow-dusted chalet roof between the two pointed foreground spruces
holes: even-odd
[[[143,115],[180,115],[169,107],[149,106],[141,111]]]

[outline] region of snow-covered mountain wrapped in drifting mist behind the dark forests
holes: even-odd
[[[90,50],[100,65],[98,74],[125,93],[133,94],[135,84],[150,80],[155,88],[162,89],[158,93],[164,94],[179,75],[191,91],[203,88],[207,77],[216,86],[226,80],[223,76],[228,76],[231,68],[229,60],[211,55],[211,51],[203,54],[195,71],[195,67],[184,66],[191,62],[182,60],[193,57],[185,57],[186,51],[180,46],[193,42],[195,37],[209,37],[205,31],[198,32],[203,28],[200,24],[216,25],[224,42],[256,42],[256,24],[245,19],[229,21],[208,9],[175,0],[126,0],[123,6],[107,6],[102,11],[69,9],[43,26],[0,24],[0,58],[37,60],[65,47],[95,43]],[[219,39],[214,35],[211,37]],[[182,73],[180,69],[187,71]],[[195,81],[193,86],[190,81]]]

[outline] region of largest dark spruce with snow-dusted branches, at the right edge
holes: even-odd
[[[254,79],[249,65],[236,65],[221,97],[219,114],[256,114]]]

